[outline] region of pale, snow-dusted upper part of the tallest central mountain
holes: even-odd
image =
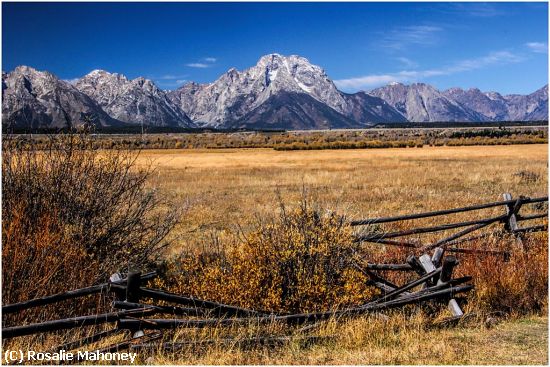
[[[260,57],[246,70],[232,68],[211,84],[185,85],[171,92],[170,98],[193,120],[204,126],[220,126],[243,117],[279,93],[307,94],[339,113],[350,110],[322,68],[304,57],[277,53]]]

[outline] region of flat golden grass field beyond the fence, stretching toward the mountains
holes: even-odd
[[[275,213],[277,195],[296,202],[304,188],[323,207],[354,219],[499,201],[504,192],[544,196],[548,149],[144,150],[138,164],[156,167],[151,185],[187,208],[177,243],[194,246],[205,232]]]

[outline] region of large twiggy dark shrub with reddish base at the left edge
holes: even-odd
[[[4,138],[4,304],[145,269],[166,244],[177,212],[147,189],[138,151],[93,148],[87,136],[51,138],[46,150]]]

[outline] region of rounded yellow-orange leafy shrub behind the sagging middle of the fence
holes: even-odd
[[[281,206],[277,220],[234,234],[229,246],[184,253],[167,264],[172,291],[276,312],[360,305],[376,290],[354,266],[360,251],[342,217],[322,215],[307,201]],[[226,243],[227,244],[227,243]]]

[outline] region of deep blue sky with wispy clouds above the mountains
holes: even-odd
[[[530,93],[548,82],[546,3],[2,3],[2,70],[93,69],[161,88],[272,52],[344,91],[392,81]]]

